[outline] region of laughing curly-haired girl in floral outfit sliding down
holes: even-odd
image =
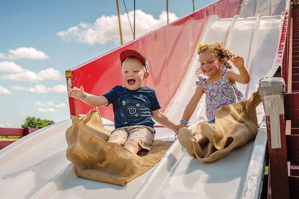
[[[186,149],[190,156],[196,157],[192,141],[197,141],[200,146],[205,145],[209,139],[202,133],[211,133],[215,125],[215,113],[221,107],[229,104],[244,101],[244,95],[235,85],[236,82],[247,84],[250,81],[250,74],[244,67],[244,59],[240,56],[230,53],[225,49],[225,42],[217,42],[209,45],[200,44],[198,48],[200,67],[196,71],[199,81],[195,93],[187,104],[183,117],[180,120],[180,126],[175,134],[178,135],[180,144]],[[228,61],[231,61],[239,72],[232,69]],[[209,78],[200,77],[202,73]],[[186,128],[194,110],[206,94],[206,117],[208,123],[201,124],[202,132],[197,133],[194,137]]]

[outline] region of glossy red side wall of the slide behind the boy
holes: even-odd
[[[148,59],[150,76],[144,86],[156,90],[163,112],[183,79],[208,16],[232,18],[238,14],[240,3],[241,0],[220,0],[71,68],[66,71],[68,90],[83,86],[87,93],[102,95],[115,85],[123,86],[119,54],[123,50],[134,49]],[[71,115],[76,116],[92,109],[74,98],[69,98],[69,106]],[[112,106],[99,110],[104,118],[113,121]]]

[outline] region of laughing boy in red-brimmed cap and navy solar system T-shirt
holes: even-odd
[[[154,141],[154,121],[173,132],[178,129],[163,113],[154,89],[142,86],[149,77],[147,59],[135,50],[120,54],[121,77],[125,87],[115,86],[101,96],[85,93],[83,87],[74,87],[68,97],[81,99],[84,103],[101,107],[113,105],[114,126],[108,142],[124,146],[132,153],[147,154]]]

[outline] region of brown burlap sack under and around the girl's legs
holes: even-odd
[[[258,132],[256,107],[262,102],[258,92],[243,102],[223,106],[216,111],[215,129],[210,134],[209,143],[199,146],[193,142],[197,159],[212,162],[227,155],[236,147],[243,146]],[[200,132],[200,124],[193,134]]]

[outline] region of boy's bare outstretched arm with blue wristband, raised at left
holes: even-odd
[[[76,99],[80,99],[84,96],[84,90],[83,87],[81,86],[80,89],[77,87],[72,88],[69,91],[68,97],[73,97]],[[106,106],[108,105],[108,100],[104,96],[96,96],[92,94],[86,93],[86,98],[82,100],[84,103],[94,106],[94,107],[101,107],[101,106]]]

